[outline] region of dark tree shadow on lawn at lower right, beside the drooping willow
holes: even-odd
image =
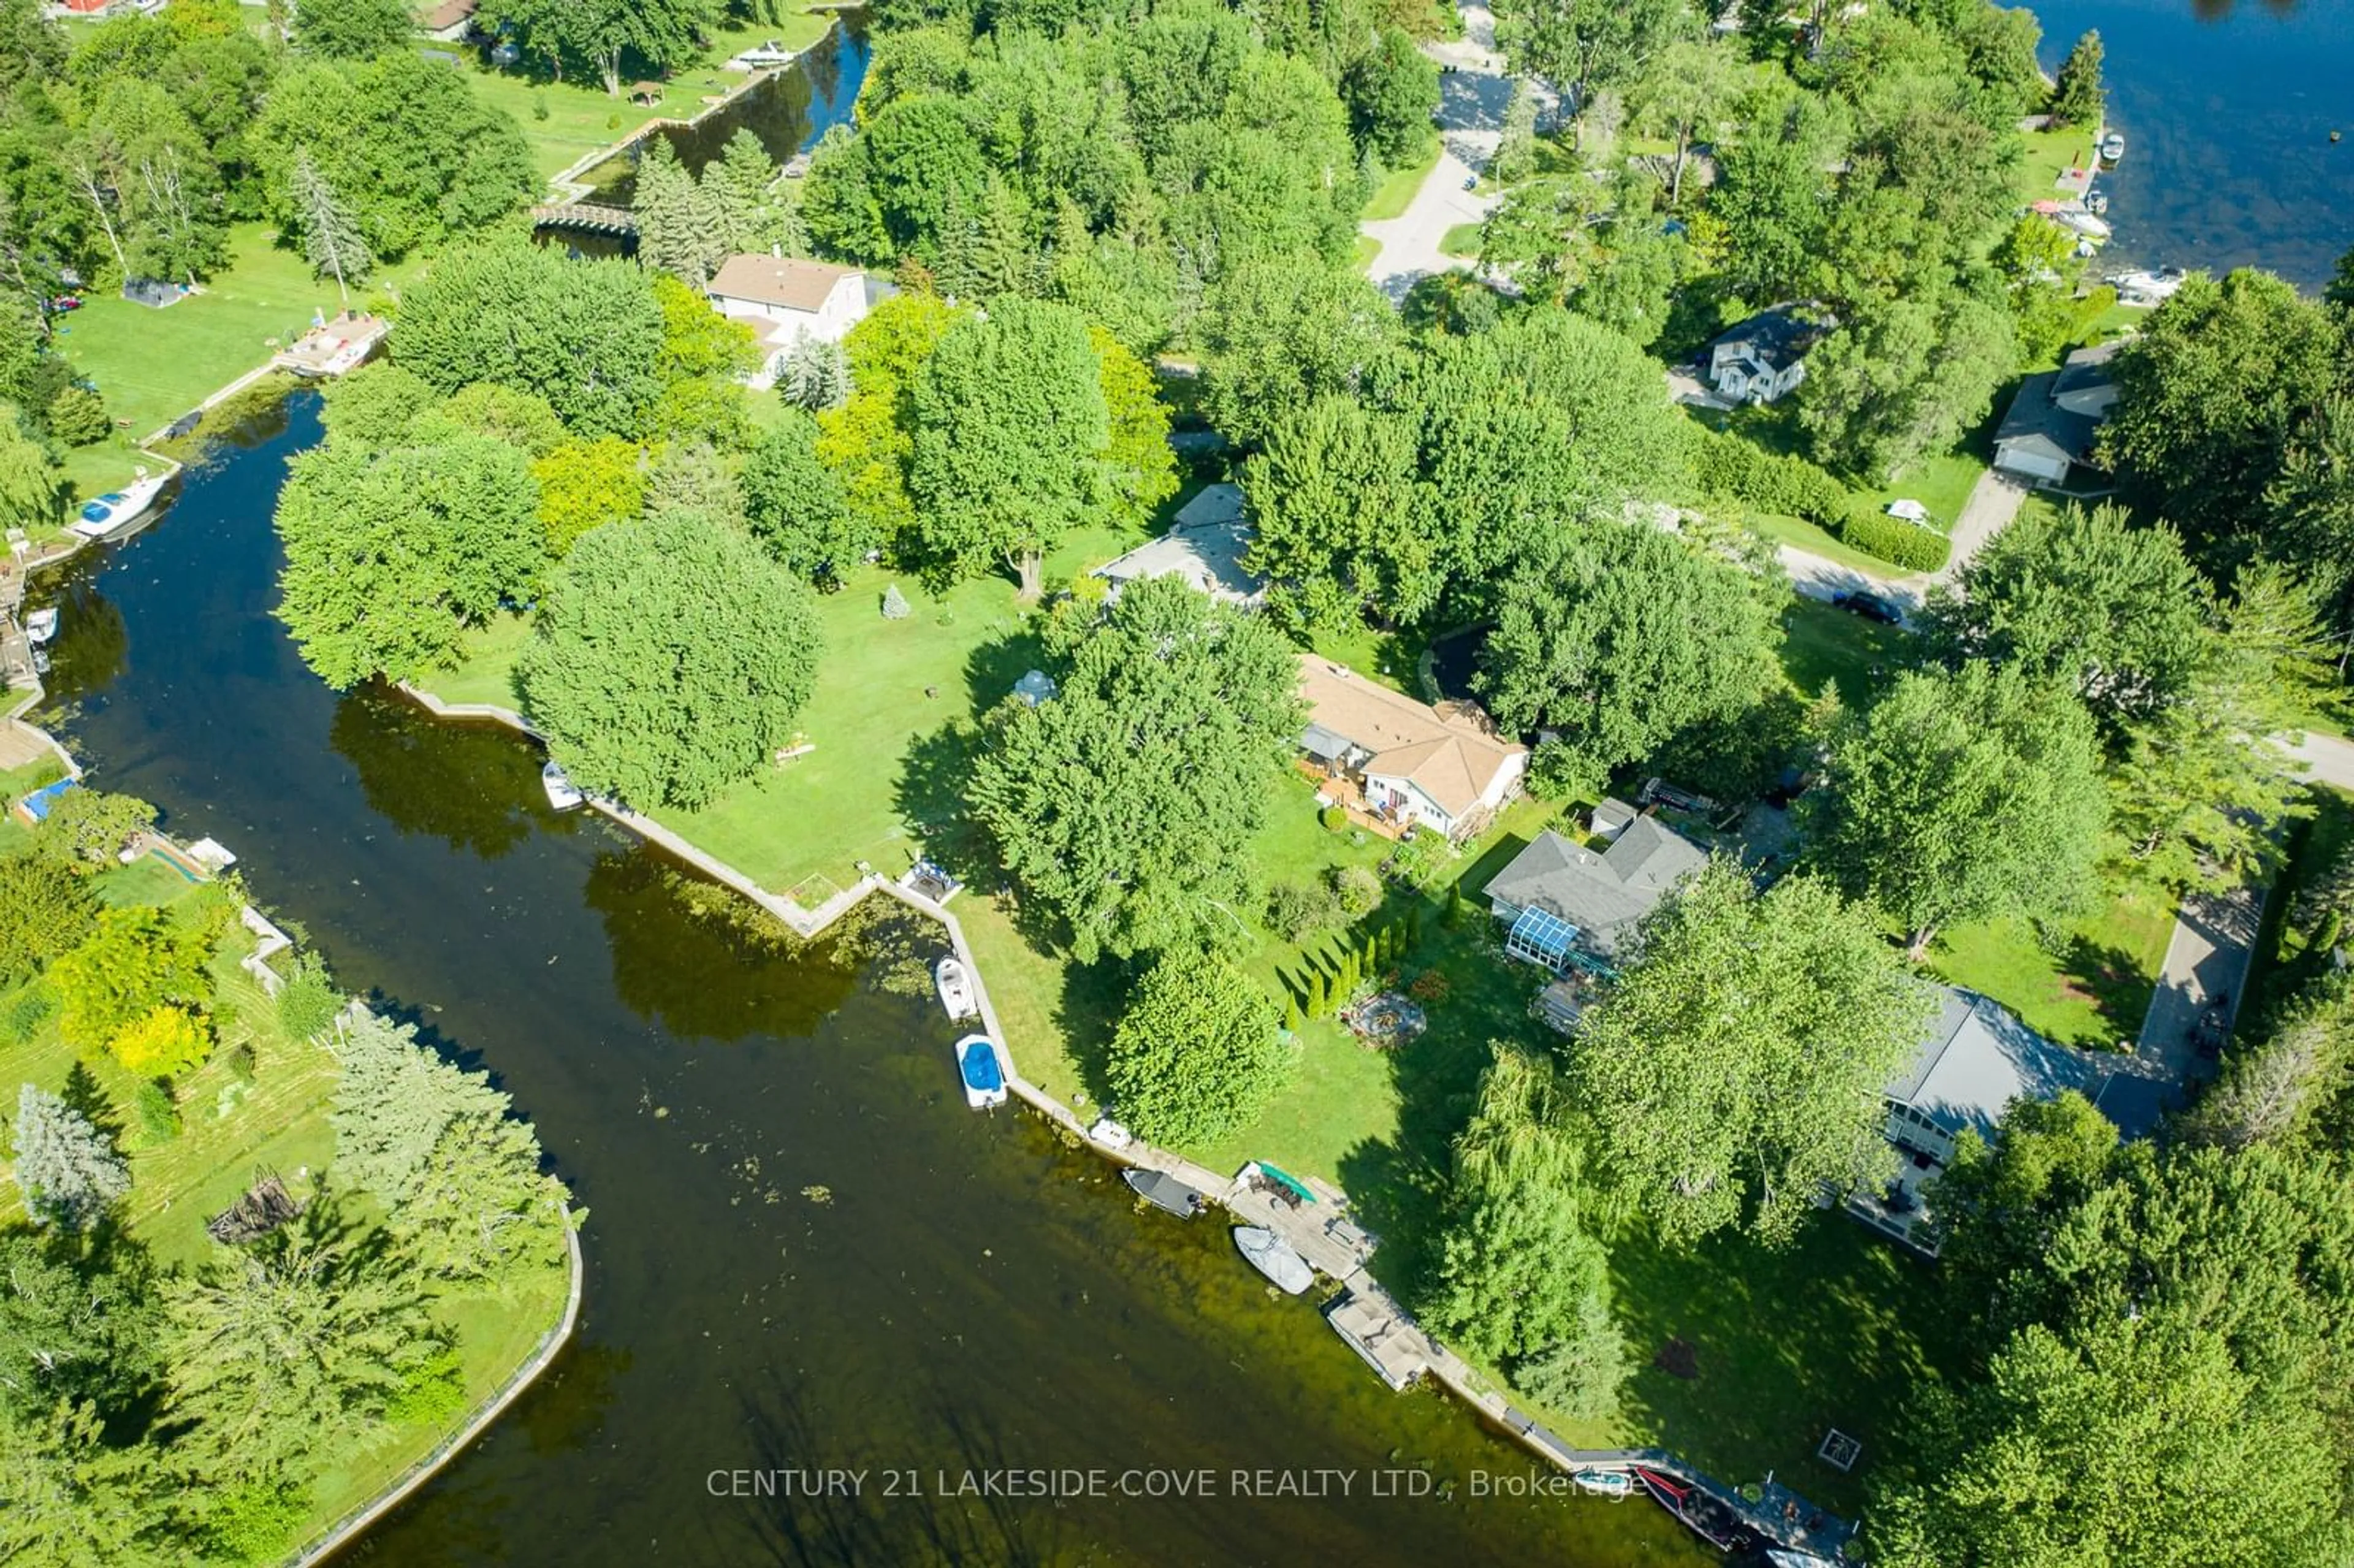
[[[1867,1471],[1895,1460],[1914,1394],[1951,1363],[1933,1269],[1836,1212],[1782,1250],[1721,1234],[1676,1253],[1648,1231],[1624,1236],[1610,1250],[1636,1366],[1622,1413],[1638,1439],[1718,1481],[1773,1469],[1853,1516]],[[1690,1349],[1690,1377],[1662,1366],[1674,1342]],[[1864,1446],[1850,1474],[1815,1457],[1831,1427]]]

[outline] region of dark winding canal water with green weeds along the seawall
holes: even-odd
[[[304,393],[45,598],[94,782],[221,838],[346,984],[497,1074],[591,1210],[579,1337],[351,1561],[1711,1561],[1648,1502],[1474,1502],[1474,1471],[1530,1474],[1518,1448],[1389,1394],[1222,1224],[1139,1215],[1036,1118],[967,1111],[953,1031],[887,965],[763,949],[742,904],[551,815],[504,730],[322,687],[271,619],[271,511],[313,440]],[[869,1474],[713,1495],[793,1469]],[[967,1469],[1113,1495],[942,1495]],[[1238,1469],[1351,1495],[1236,1497]],[[1210,1495],[1123,1497],[1123,1471]],[[1434,1495],[1370,1495],[1405,1474]]]

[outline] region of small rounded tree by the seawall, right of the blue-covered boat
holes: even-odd
[[[1215,954],[1170,951],[1137,982],[1104,1078],[1142,1137],[1208,1144],[1248,1128],[1297,1064],[1257,982]]]

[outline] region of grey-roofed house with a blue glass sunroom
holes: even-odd
[[[1643,916],[1709,852],[1657,817],[1636,817],[1622,800],[1594,808],[1591,850],[1551,829],[1537,833],[1483,888],[1504,925],[1504,954],[1554,975],[1572,968],[1608,972],[1634,946]]]

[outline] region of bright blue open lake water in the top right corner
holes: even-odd
[[[2349,0],[2041,0],[2043,66],[2100,28],[2123,165],[2102,268],[2265,266],[2316,290],[2354,247]],[[2330,129],[2345,139],[2330,144]]]

